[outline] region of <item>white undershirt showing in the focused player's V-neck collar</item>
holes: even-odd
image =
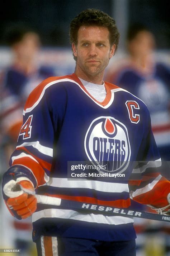
[[[99,102],[104,101],[106,97],[106,89],[104,86],[104,82],[103,84],[93,84],[81,78],[79,79],[86,88],[86,90],[91,94],[91,96],[93,96]]]

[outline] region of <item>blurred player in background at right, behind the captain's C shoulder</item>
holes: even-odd
[[[151,115],[152,131],[162,160],[170,160],[170,69],[156,62],[154,35],[134,24],[127,33],[129,57],[110,68],[106,79],[143,100]]]

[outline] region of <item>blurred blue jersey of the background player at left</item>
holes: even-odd
[[[40,66],[27,74],[16,66],[8,67],[0,79],[0,129],[2,143],[15,143],[22,125],[22,112],[30,92],[43,79],[54,75],[51,67]]]

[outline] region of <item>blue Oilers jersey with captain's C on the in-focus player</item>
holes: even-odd
[[[129,207],[130,190],[137,202],[161,206],[165,204],[164,195],[159,192],[155,198],[155,191],[166,187],[167,181],[158,173],[149,175],[148,170],[153,168],[147,169],[160,166],[148,109],[124,89],[106,82],[105,89],[105,100],[98,102],[75,74],[48,78],[38,85],[24,107],[8,174],[18,167],[15,176],[29,177],[37,194],[51,197]],[[107,169],[100,172],[124,173],[126,179],[70,180],[68,161],[91,161],[94,165],[108,162]],[[135,166],[133,161],[138,161]],[[145,172],[147,178],[128,185],[132,169],[134,174]],[[136,236],[131,217],[84,214],[38,204],[33,213],[33,239],[40,235],[98,240],[130,240]]]

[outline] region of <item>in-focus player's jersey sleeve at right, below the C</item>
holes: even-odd
[[[170,181],[162,176],[161,158],[151,130],[150,116],[146,133],[143,136],[131,180],[129,181],[130,197],[142,204],[156,208],[168,204]]]

